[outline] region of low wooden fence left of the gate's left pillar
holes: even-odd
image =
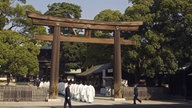
[[[34,86],[0,86],[0,101],[46,101],[48,90]]]

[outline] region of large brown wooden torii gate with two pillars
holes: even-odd
[[[71,18],[52,17],[32,12],[27,12],[33,24],[42,26],[53,26],[53,35],[35,35],[36,39],[53,41],[52,61],[51,61],[51,77],[49,98],[56,99],[58,97],[58,79],[59,79],[59,54],[60,41],[64,42],[83,42],[97,44],[114,44],[114,98],[122,98],[121,91],[121,45],[135,45],[135,41],[120,38],[120,31],[137,31],[142,21],[132,22],[102,22],[94,20],[82,20]],[[60,34],[60,27],[81,28],[85,29],[85,37],[64,36]],[[92,38],[91,30],[111,30],[114,31],[114,38]]]

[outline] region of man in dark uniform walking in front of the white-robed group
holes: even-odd
[[[71,107],[71,92],[70,92],[70,86],[71,82],[68,82],[67,87],[65,88],[65,102],[64,102],[64,108],[67,108],[67,104],[69,105],[69,108]]]

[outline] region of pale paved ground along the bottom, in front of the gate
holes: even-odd
[[[49,102],[0,102],[0,108],[63,108],[64,98]],[[192,108],[192,102],[143,100],[137,105],[132,100],[113,101],[112,97],[95,97],[93,103],[72,101],[73,108]]]

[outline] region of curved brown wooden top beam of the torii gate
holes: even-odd
[[[137,31],[138,27],[143,24],[142,21],[131,22],[103,22],[95,20],[84,20],[74,18],[60,18],[53,16],[46,16],[36,13],[27,12],[29,18],[32,19],[33,24],[57,26],[59,23],[62,27],[95,29],[95,30],[124,30]]]

